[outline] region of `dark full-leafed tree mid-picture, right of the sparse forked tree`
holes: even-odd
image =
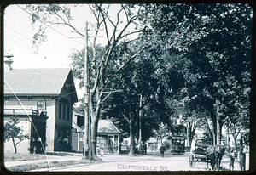
[[[119,62],[127,63],[131,59],[134,53],[140,47],[143,47],[142,41],[126,43],[127,47],[125,51],[118,52]],[[119,46],[119,48],[124,45]],[[155,93],[157,92],[157,80],[152,77],[154,73],[154,64],[148,61],[145,56],[146,52],[143,52],[137,59],[131,60],[129,65],[126,65],[118,76],[112,77],[112,88],[122,89],[121,93],[113,93],[108,99],[108,105],[104,107],[104,115],[108,116],[112,120],[117,119],[119,121],[118,126],[123,130],[130,133],[131,150],[130,155],[135,153],[135,137],[138,138],[139,127],[143,127],[143,141],[145,138],[149,138],[150,134],[145,131],[148,130],[151,133],[152,128],[155,127],[155,120],[148,112],[149,104],[155,102]],[[139,125],[140,111],[143,110],[142,125]],[[126,127],[126,128],[125,128]],[[150,128],[151,127],[151,128]],[[129,130],[128,130],[129,128]]]

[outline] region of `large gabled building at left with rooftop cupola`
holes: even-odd
[[[67,138],[70,145],[73,104],[78,102],[71,69],[12,69],[11,63],[8,58],[4,71],[4,121],[8,120],[9,115],[23,115],[24,119],[20,123],[27,126],[26,132],[32,140],[32,126],[24,115],[24,108],[33,118],[41,116],[40,114],[44,117],[47,115],[45,150],[58,150],[59,138]],[[26,124],[22,124],[25,123],[24,120]],[[26,150],[30,150],[31,141],[29,142]],[[6,143],[5,149],[8,148],[7,145]]]

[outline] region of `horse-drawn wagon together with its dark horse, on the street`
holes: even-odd
[[[210,163],[212,170],[219,170],[220,162],[225,152],[224,145],[195,144],[195,150],[189,155],[189,166],[194,168],[196,161]]]

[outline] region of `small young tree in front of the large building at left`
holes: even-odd
[[[4,141],[12,140],[15,153],[17,153],[17,144],[20,144],[26,138],[29,138],[28,134],[24,134],[21,127],[18,126],[20,122],[18,116],[9,116],[10,121],[4,124]],[[16,141],[18,139],[18,141]]]

